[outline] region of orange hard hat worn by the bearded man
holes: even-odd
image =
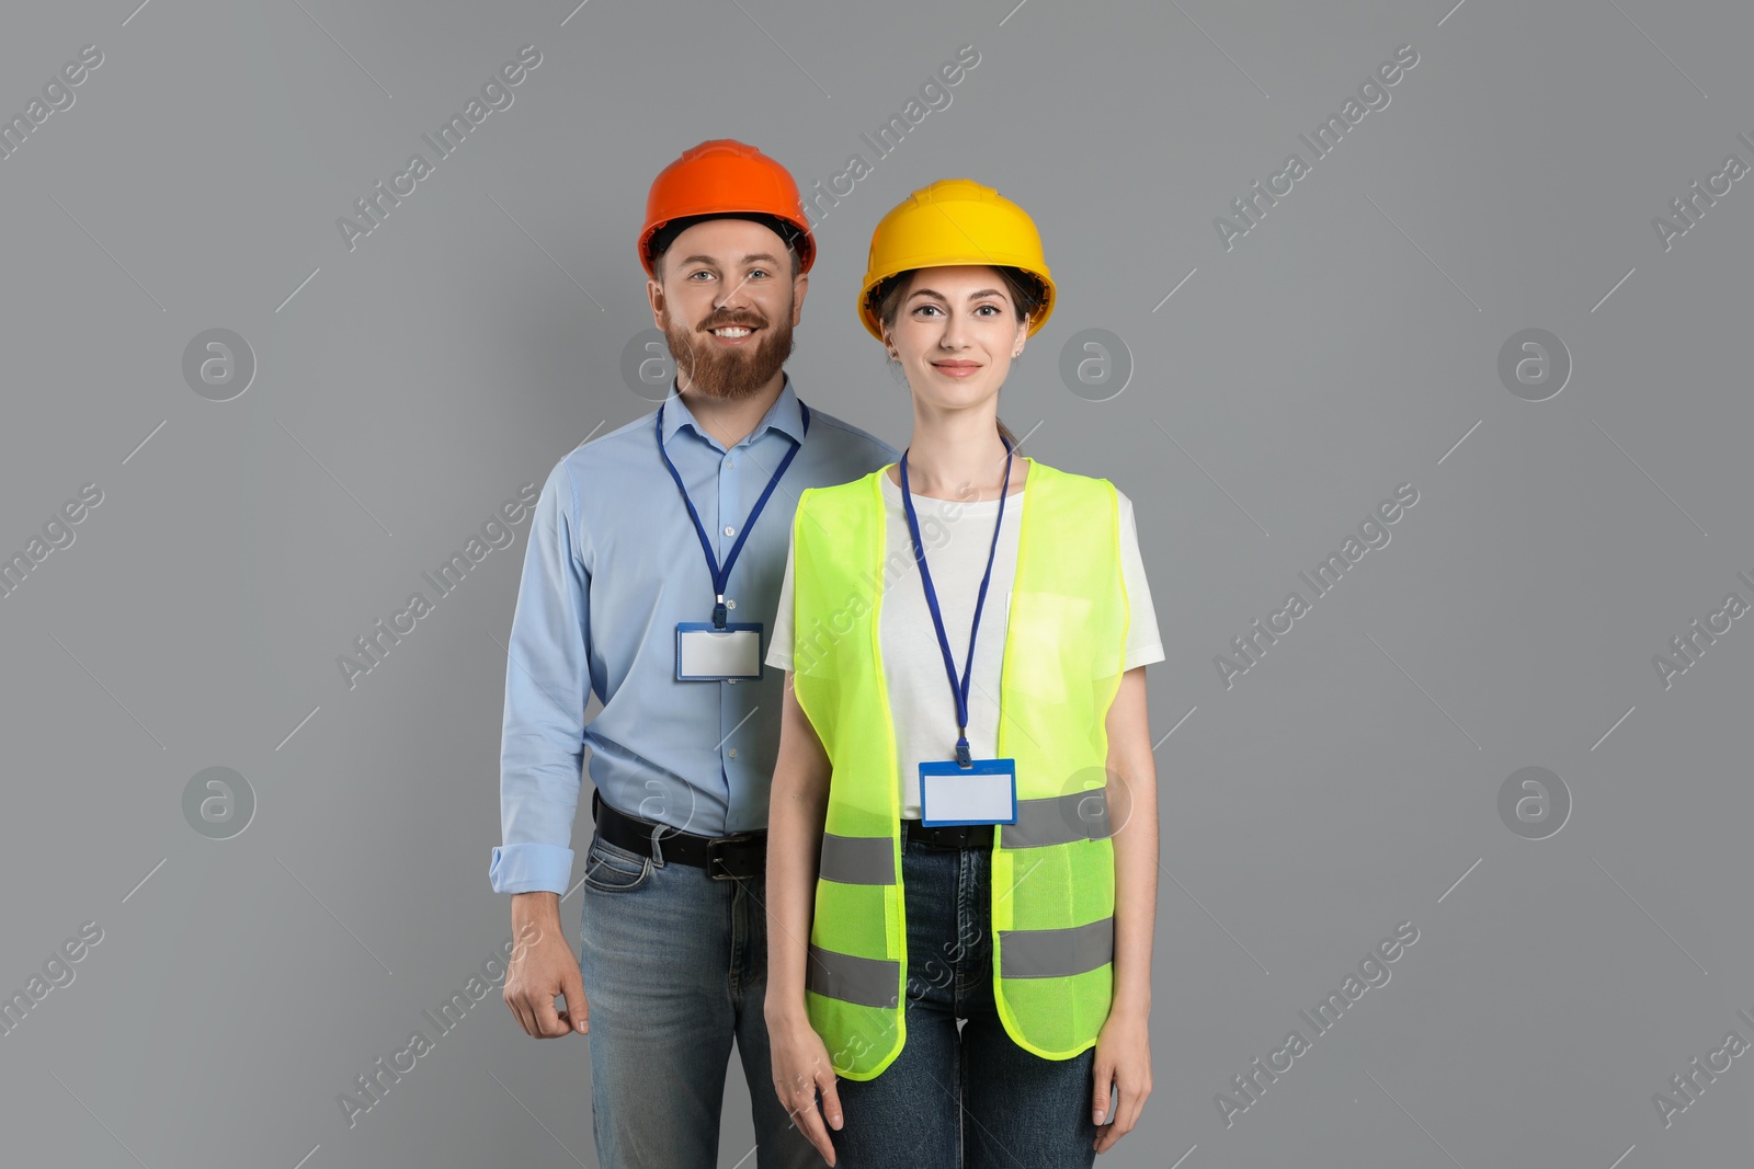
[[[777,233],[798,249],[798,272],[816,261],[816,237],[803,216],[803,200],[791,174],[756,147],[735,138],[712,138],[682,151],[658,172],[645,196],[645,226],[640,230],[640,265],[652,272],[652,237],[665,224],[695,216],[766,217],[779,221]],[[781,231],[789,226],[795,231]]]

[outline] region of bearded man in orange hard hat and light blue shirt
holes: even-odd
[[[652,182],[640,233],[677,393],[563,457],[535,507],[489,878],[512,894],[519,938],[507,1006],[531,1036],[591,1034],[605,1169],[719,1164],[733,1038],[758,1169],[823,1164],[774,1092],[763,1017],[784,673],[761,655],[798,492],[900,456],[807,410],[782,370],[814,258],[779,163],[733,140],[684,151]],[[593,692],[603,710],[586,727]],[[596,831],[579,962],[560,896],[584,743]]]

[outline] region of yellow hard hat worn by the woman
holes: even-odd
[[[1042,284],[1042,307],[1030,319],[1030,337],[1054,312],[1054,275],[1042,256],[1042,235],[1030,214],[973,179],[938,179],[877,221],[859,287],[859,321],[882,340],[872,291],[898,272],[991,265],[1023,268]]]

